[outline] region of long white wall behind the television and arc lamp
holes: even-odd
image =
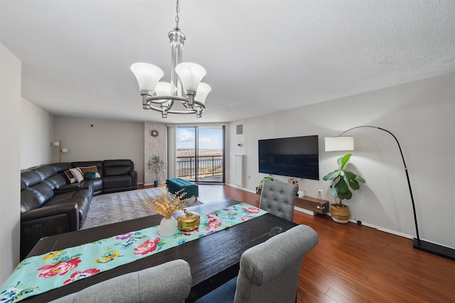
[[[343,152],[324,152],[324,137],[338,136],[354,126],[385,128],[402,145],[417,209],[420,238],[455,248],[455,74],[443,75],[375,92],[304,106],[230,123],[230,174],[235,154],[245,154],[245,189],[254,190],[264,174],[258,173],[257,140],[319,135],[320,181],[300,180],[306,194],[333,202],[322,177],[336,169]],[[243,124],[243,135],[235,126]],[[405,235],[416,236],[410,192],[395,140],[384,131],[359,128],[351,169],[367,182],[348,200],[355,219]],[[241,147],[237,143],[242,143]],[[286,181],[287,177],[279,177]],[[341,226],[342,228],[342,226]]]

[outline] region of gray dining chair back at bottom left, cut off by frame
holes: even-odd
[[[52,302],[177,303],[184,302],[188,297],[192,282],[190,265],[185,260],[179,259],[138,272],[119,275]]]

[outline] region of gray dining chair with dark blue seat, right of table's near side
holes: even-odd
[[[306,225],[295,226],[245,251],[237,277],[198,299],[197,303],[294,303],[304,255],[319,236]]]

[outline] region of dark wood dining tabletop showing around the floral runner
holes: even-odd
[[[192,206],[188,210],[196,211],[198,214],[206,214],[210,211],[221,209],[225,206],[238,204],[234,199],[226,199],[221,202],[200,204]],[[159,225],[163,217],[160,215],[146,216],[129,221],[115,224],[87,228],[81,231],[63,233],[56,236],[42,238],[28,254],[42,255],[53,250],[79,246],[91,243],[102,238],[117,236],[129,231],[138,231],[150,226]],[[272,237],[270,233],[274,227],[281,227],[282,231],[296,226],[291,221],[279,218],[272,214],[264,214],[242,224],[225,228],[209,236],[189,241],[164,250],[161,253],[150,255],[149,257],[136,260],[132,263],[121,265],[112,270],[100,272],[97,275],[78,280],[64,287],[50,290],[43,294],[24,299],[24,302],[48,302],[58,297],[77,292],[94,285],[98,282],[124,275],[128,272],[144,270],[152,266],[160,265],[171,260],[183,259],[191,266],[193,286],[187,302],[193,302],[204,294],[214,290],[216,287],[235,277],[239,270],[240,257],[248,248],[267,241]]]

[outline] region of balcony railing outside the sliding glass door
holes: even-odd
[[[223,157],[220,155],[203,155],[198,157],[198,177],[223,176]],[[177,156],[177,177],[196,177],[196,157]]]

